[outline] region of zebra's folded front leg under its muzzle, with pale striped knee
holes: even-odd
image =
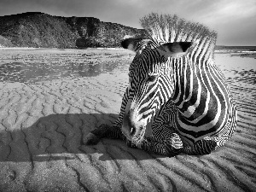
[[[173,157],[181,153],[183,143],[176,133],[172,133],[172,136],[166,138],[162,143],[150,139],[144,139],[142,143],[137,144],[137,148],[141,148],[144,151],[154,154],[163,154],[168,157]]]

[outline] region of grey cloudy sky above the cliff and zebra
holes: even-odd
[[[1,0],[0,16],[24,12],[96,17],[142,28],[151,12],[178,15],[218,32],[218,45],[256,46],[256,0]],[[1,27],[1,26],[0,26]]]

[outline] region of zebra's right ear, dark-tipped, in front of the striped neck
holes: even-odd
[[[188,49],[193,45],[192,42],[173,42],[173,43],[167,43],[162,44],[160,46],[160,49],[165,50],[163,53],[167,57],[181,57],[183,55],[186,55],[188,52]]]

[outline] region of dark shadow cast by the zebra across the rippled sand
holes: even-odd
[[[125,141],[103,138],[96,145],[84,145],[82,139],[103,123],[112,125],[113,113],[58,113],[45,117],[30,116],[16,125],[3,119],[0,126],[0,162],[74,160],[80,155],[97,160],[146,160],[164,157],[129,148]]]

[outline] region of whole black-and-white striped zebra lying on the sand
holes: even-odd
[[[210,154],[237,125],[236,102],[214,63],[217,33],[177,15],[150,14],[141,23],[147,38],[121,42],[136,55],[119,118],[90,131],[84,143],[109,137],[168,157]]]

